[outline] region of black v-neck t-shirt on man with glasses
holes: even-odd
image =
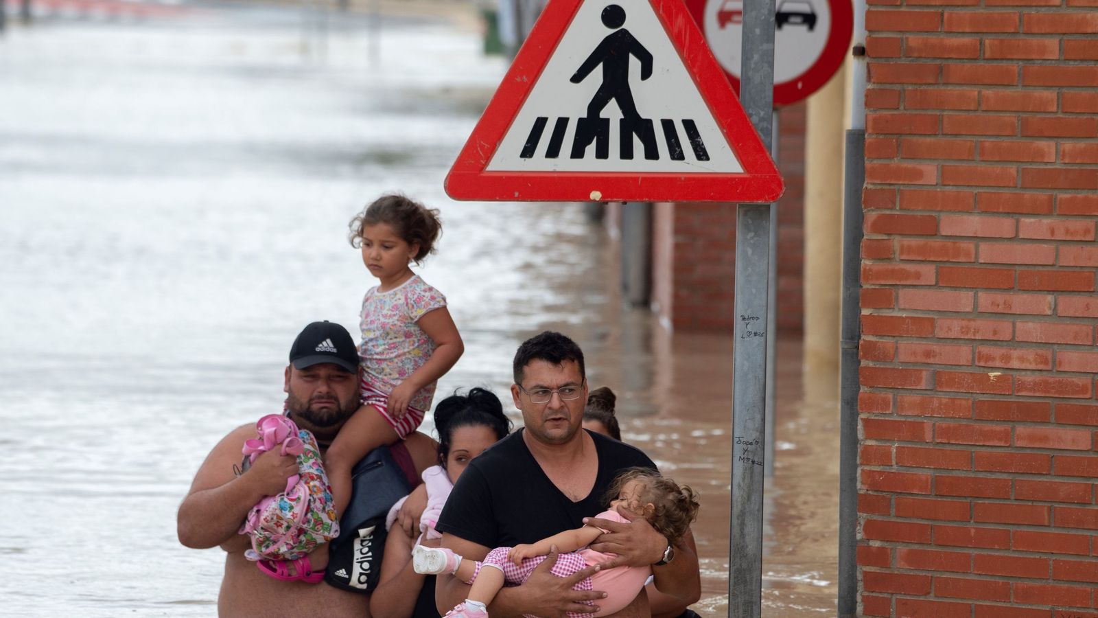
[[[606,492],[621,470],[656,470],[640,449],[587,433],[598,455],[598,475],[587,497],[573,503],[562,494],[541,471],[518,430],[469,463],[435,528],[486,548],[534,543],[580,528],[584,517],[606,510]]]

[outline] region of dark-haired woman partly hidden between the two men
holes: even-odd
[[[512,422],[503,413],[500,398],[484,388],[472,388],[468,395],[455,393],[435,407],[438,465],[423,472],[424,484],[412,493],[416,496],[426,492],[427,508],[419,518],[419,529],[412,533],[400,525],[392,525],[392,516],[403,500],[390,511],[381,577],[370,595],[370,613],[373,616],[438,618],[435,576],[419,575],[412,570],[412,550],[419,543],[439,547],[441,536],[435,531],[434,523],[453,483],[473,457],[511,433],[511,428]],[[422,495],[417,497],[423,498]]]

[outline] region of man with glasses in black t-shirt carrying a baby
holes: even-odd
[[[473,560],[483,560],[492,548],[534,543],[580,528],[584,518],[605,509],[606,490],[620,471],[656,468],[639,449],[582,430],[587,385],[583,352],[571,339],[547,331],[527,340],[515,353],[513,369],[511,395],[525,427],[469,464],[436,526],[442,532],[442,547]],[[609,532],[591,548],[618,554],[603,567],[652,565],[661,592],[682,598],[684,605],[701,596],[691,534],[681,547],[671,545],[641,517],[628,525],[600,520],[600,527]],[[572,589],[595,567],[558,577],[550,572],[554,563],[556,554],[550,554],[525,584],[500,591],[489,615],[596,611],[602,591]],[[440,613],[462,602],[470,588],[452,575],[439,575],[437,584]],[[643,593],[615,614],[623,618],[649,615]]]

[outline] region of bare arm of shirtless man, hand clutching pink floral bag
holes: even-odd
[[[268,451],[236,476],[233,466],[240,463],[240,448],[254,433],[254,424],[232,431],[202,462],[179,506],[176,523],[183,545],[206,549],[231,540],[251,507],[285,490],[285,479],[296,474],[296,457]]]

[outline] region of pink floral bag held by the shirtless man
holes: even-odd
[[[257,439],[244,443],[249,462],[266,451],[280,449],[298,457],[298,474],[287,479],[285,490],[267,496],[248,512],[239,533],[251,537],[249,560],[296,560],[339,536],[332,505],[332,486],[324,473],[316,439],[299,430],[282,415],[267,415],[256,423]]]

